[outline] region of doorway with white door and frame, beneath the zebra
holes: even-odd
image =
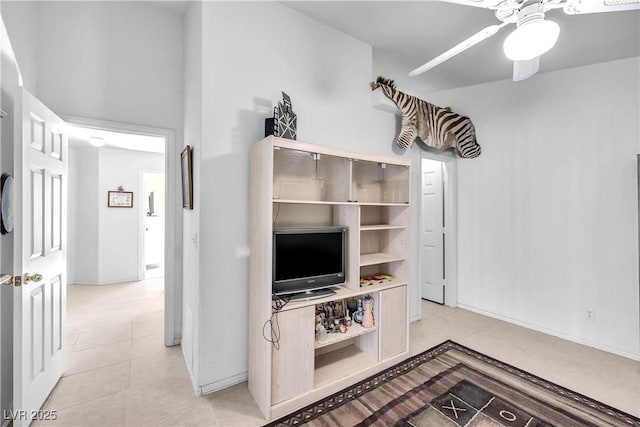
[[[420,163],[419,283],[421,299],[455,307],[456,159],[425,152]]]

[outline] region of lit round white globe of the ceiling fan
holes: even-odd
[[[551,49],[559,35],[560,26],[553,21],[526,22],[507,36],[502,48],[512,61],[528,61]]]

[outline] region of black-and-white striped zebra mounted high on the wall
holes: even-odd
[[[458,156],[473,158],[480,155],[480,145],[471,119],[396,89],[391,79],[378,77],[370,83],[371,90],[382,89],[402,111],[402,129],[396,145],[411,148],[420,137],[426,145],[439,150],[455,149]]]

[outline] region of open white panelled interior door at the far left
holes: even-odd
[[[30,93],[16,100],[14,426],[31,423],[65,367],[67,136]],[[41,277],[38,277],[40,275]]]

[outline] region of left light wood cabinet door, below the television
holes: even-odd
[[[272,347],[271,404],[313,388],[315,306],[278,313],[279,349]]]

